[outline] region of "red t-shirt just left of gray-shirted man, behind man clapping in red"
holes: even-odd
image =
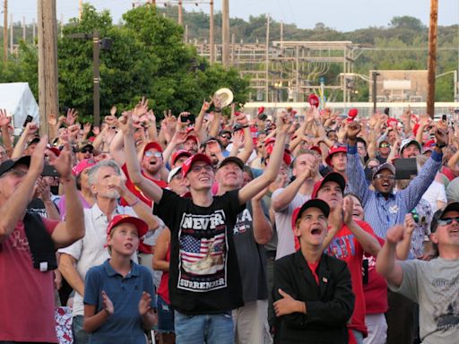
[[[377,237],[382,246],[384,240]],[[365,295],[365,308],[367,314],[381,314],[387,311],[387,282],[384,277],[377,273],[377,258],[364,253],[368,259],[368,283],[363,285]]]

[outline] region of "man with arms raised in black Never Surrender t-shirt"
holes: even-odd
[[[264,174],[222,196],[212,195],[211,159],[204,154],[187,159],[182,174],[191,198],[180,198],[142,176],[135,159],[132,120],[120,120],[129,175],[157,204],[158,215],[170,228],[169,297],[178,344],[233,343],[230,311],[242,306],[243,299],[232,231],[246,202],[279,173],[290,125],[286,116],[278,117],[278,137]]]

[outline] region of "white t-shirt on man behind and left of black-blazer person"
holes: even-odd
[[[277,189],[273,192],[272,204],[276,197],[284,191],[284,188]],[[277,252],[276,260],[285,255],[295,253],[295,236],[291,228],[291,215],[295,209],[307,202],[311,196],[309,194],[297,193],[290,204],[281,211],[274,211],[277,230]]]

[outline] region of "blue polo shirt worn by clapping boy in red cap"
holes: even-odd
[[[144,266],[132,263],[125,278],[113,270],[108,260],[92,267],[84,283],[85,305],[97,305],[96,314],[102,310],[101,291],[107,293],[115,308],[100,328],[91,333],[90,343],[145,343],[139,301],[143,291],[154,296],[152,274]],[[153,302],[152,302],[153,307]]]

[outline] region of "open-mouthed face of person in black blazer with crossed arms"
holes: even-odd
[[[324,212],[318,208],[307,208],[297,219],[294,233],[299,236],[301,246],[309,245],[320,247],[324,244],[328,232],[327,219]]]

